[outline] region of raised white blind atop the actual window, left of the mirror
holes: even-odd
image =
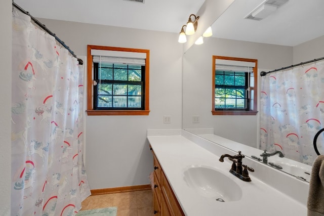
[[[91,55],[95,63],[145,65],[146,59],[146,53],[110,50],[91,50]]]

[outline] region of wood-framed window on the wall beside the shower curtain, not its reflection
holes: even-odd
[[[148,115],[149,50],[88,45],[88,115]]]

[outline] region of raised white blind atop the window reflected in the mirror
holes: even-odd
[[[216,59],[216,70],[252,72],[252,68],[254,67],[255,62]]]

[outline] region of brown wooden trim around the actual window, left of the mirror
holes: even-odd
[[[91,50],[111,50],[111,51],[123,51],[123,52],[136,52],[136,53],[146,53],[145,60],[145,105],[144,110],[94,110],[93,109],[93,57],[91,55]],[[118,48],[118,47],[104,47],[104,46],[87,46],[87,114],[88,115],[148,115],[149,110],[149,60],[150,51],[142,49],[132,49],[132,48]]]

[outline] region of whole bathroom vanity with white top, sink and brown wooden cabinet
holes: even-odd
[[[155,215],[307,215],[307,182],[250,157],[242,164],[255,171],[242,181],[229,172],[232,161],[219,161],[238,152],[182,129],[148,130],[147,139]]]

